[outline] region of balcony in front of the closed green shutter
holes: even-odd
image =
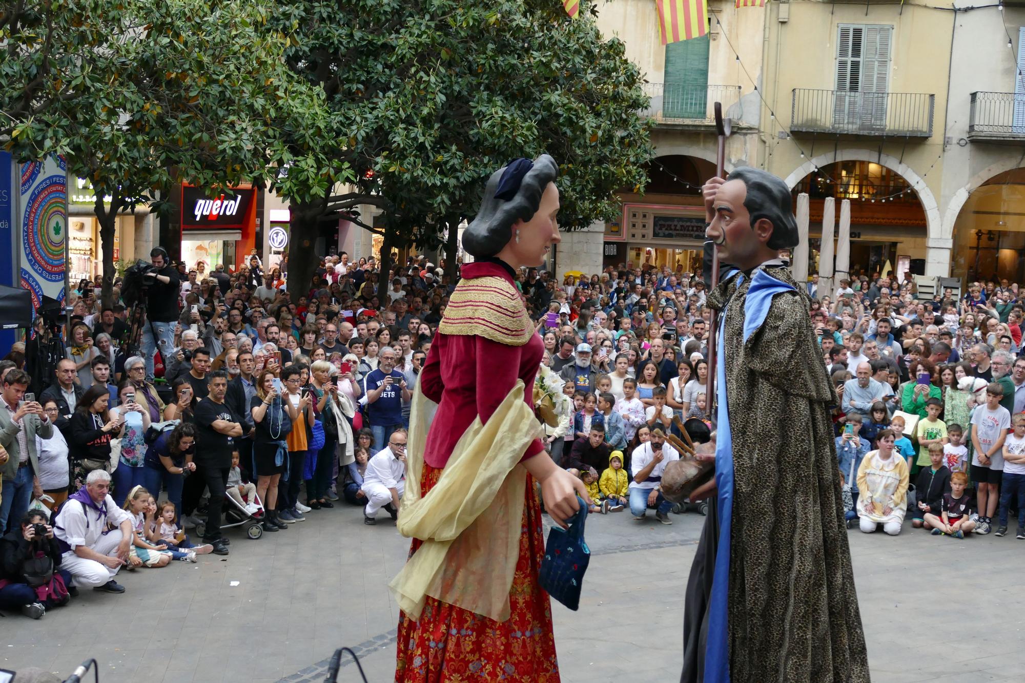
[[[651,97],[651,106],[641,112],[666,127],[681,129],[707,129],[715,125],[713,106],[723,103],[723,114],[739,119],[736,109],[740,103],[739,85],[675,85],[672,83],[645,83],[644,91]]]

